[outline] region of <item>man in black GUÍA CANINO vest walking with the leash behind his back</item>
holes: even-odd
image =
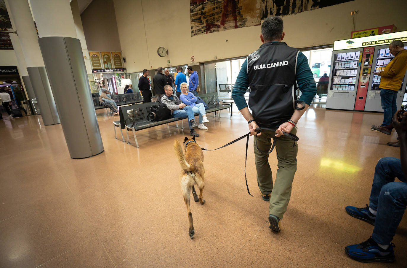
[[[232,91],[236,106],[247,120],[251,135],[254,135],[257,183],[263,199],[270,201],[269,228],[277,232],[281,230],[281,219],[287,210],[291,184],[297,170],[297,142],[284,135],[283,131],[297,132],[295,125],[317,93],[307,58],[298,49],[281,42],[284,35],[280,17],[263,21],[260,34],[263,44],[242,64]],[[296,84],[302,92],[301,106],[305,105],[302,110],[295,109]],[[248,87],[252,113],[244,97]],[[271,128],[273,131],[263,129],[256,133],[257,127]],[[272,139],[276,142],[278,159],[274,185],[267,154]]]

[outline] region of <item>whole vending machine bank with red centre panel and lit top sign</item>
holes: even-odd
[[[382,71],[394,58],[389,53],[389,44],[394,40],[407,42],[407,31],[334,42],[326,109],[383,112],[380,77],[372,71]],[[406,84],[398,93],[398,107],[403,99],[407,103]]]

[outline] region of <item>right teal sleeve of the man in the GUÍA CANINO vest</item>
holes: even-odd
[[[317,94],[317,85],[309,68],[308,60],[301,51],[298,53],[295,80],[297,80],[298,89],[301,91],[300,100],[310,105]]]

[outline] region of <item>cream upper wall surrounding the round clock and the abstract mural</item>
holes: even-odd
[[[114,9],[129,73],[165,67],[167,60],[171,66],[189,64],[192,55],[195,62],[214,60],[215,56],[222,59],[248,55],[261,44],[260,26],[191,38],[189,0],[114,0]],[[284,16],[284,41],[304,48],[349,38],[353,31],[350,12],[354,10],[359,10],[355,15],[356,30],[390,24],[395,24],[397,31],[407,30],[407,1],[355,0]],[[158,47],[168,49],[169,55],[159,57]]]

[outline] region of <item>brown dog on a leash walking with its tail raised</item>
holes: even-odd
[[[195,142],[195,136],[192,139],[185,137],[184,151],[182,151],[181,144],[177,140],[174,142],[174,149],[177,155],[179,164],[182,171],[179,175],[179,184],[181,186],[181,192],[184,196],[184,202],[186,209],[188,210],[189,219],[189,237],[193,238],[195,235],[194,226],[192,223],[192,213],[189,205],[189,199],[192,194],[194,195],[195,202],[200,202],[201,205],[205,204],[205,200],[202,199],[202,192],[204,190],[204,153],[202,153],[201,147]],[[199,198],[195,192],[194,184],[199,188]]]

